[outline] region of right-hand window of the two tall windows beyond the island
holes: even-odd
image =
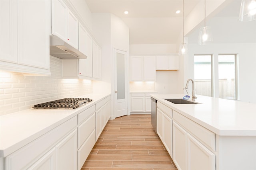
[[[237,99],[236,55],[218,55],[219,98]]]

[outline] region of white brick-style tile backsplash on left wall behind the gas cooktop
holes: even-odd
[[[50,56],[51,76],[0,72],[0,115],[30,109],[35,104],[92,93],[92,81],[62,78],[62,60]]]

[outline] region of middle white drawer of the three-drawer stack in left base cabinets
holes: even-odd
[[[95,113],[78,126],[78,148],[84,143],[88,136],[95,129]]]

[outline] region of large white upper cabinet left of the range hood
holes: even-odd
[[[1,70],[50,75],[50,1],[0,1]]]

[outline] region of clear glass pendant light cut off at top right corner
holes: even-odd
[[[239,21],[256,20],[256,0],[242,0]]]

